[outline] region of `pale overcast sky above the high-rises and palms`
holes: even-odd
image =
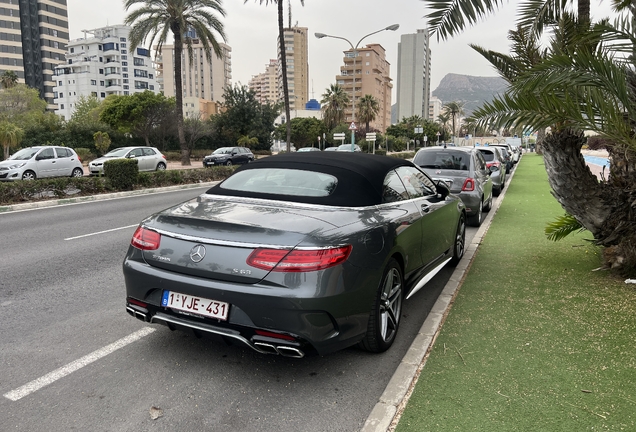
[[[600,0],[598,0],[600,1]],[[400,35],[426,28],[427,10],[420,0],[291,0],[292,25],[309,29],[309,92],[320,100],[325,89],[335,82],[342,65],[347,42],[339,39],[316,39],[314,33],[341,36],[355,45],[363,36],[392,24],[400,28],[370,36],[360,46],[379,43],[386,50],[391,64],[395,102],[397,47]],[[608,2],[605,2],[608,3]],[[71,39],[83,37],[82,30],[122,24],[126,12],[121,0],[67,0]],[[609,9],[596,7],[592,1],[593,18],[607,16]],[[285,26],[288,25],[288,3],[285,2]],[[448,73],[473,76],[497,76],[490,63],[468,44],[508,52],[508,30],[514,27],[518,1],[511,1],[495,15],[472,27],[460,36],[431,41],[431,91]],[[223,0],[226,11],[222,19],[232,48],[232,83],[247,84],[253,75],[265,71],[269,59],[276,58],[278,35],[275,4],[260,5],[259,0]]]

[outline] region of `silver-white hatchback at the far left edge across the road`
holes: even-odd
[[[0,162],[0,180],[3,181],[83,175],[82,161],[75,150],[68,147],[27,147]]]

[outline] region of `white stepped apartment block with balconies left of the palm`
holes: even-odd
[[[109,95],[159,92],[150,50],[130,50],[130,27],[113,25],[85,30],[68,43],[66,64],[55,68],[56,114],[70,119],[80,96],[104,100]]]

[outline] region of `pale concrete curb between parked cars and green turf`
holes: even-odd
[[[450,311],[455,296],[475,258],[477,249],[486,235],[488,228],[490,228],[492,219],[499,210],[499,206],[506,195],[506,191],[515,172],[516,168],[508,178],[507,187],[502,191],[501,195],[497,197],[497,201],[493,203],[492,209],[488,212],[479,230],[477,230],[477,234],[475,234],[475,237],[473,237],[473,240],[466,248],[464,257],[457,267],[455,267],[455,271],[444,286],[424,324],[422,324],[420,331],[395,370],[391,380],[380,396],[380,400],[375,404],[364,426],[360,429],[361,432],[386,432],[394,430],[397,426],[402,411],[406,407],[415,384],[417,384],[420,373],[426,364],[428,353],[435,343],[435,339]]]

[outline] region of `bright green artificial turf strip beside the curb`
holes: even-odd
[[[589,232],[546,239],[540,156],[508,187],[396,430],[636,430],[636,285]]]

